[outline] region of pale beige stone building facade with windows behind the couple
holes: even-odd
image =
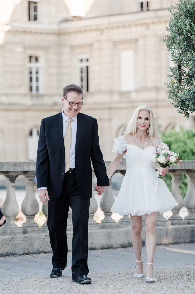
[[[2,3],[4,2],[4,3]],[[95,0],[71,16],[66,0],[0,3],[0,161],[33,160],[41,119],[62,110],[62,88],[84,88],[81,112],[98,120],[104,159],[139,105],[161,130],[194,126],[167,99],[162,42],[175,0]]]

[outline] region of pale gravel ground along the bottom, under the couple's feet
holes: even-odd
[[[62,278],[49,278],[38,275],[21,276],[17,280],[1,283],[4,294],[53,294],[53,293],[169,293],[194,294],[194,265],[181,267],[157,268],[154,270],[157,283],[147,284],[145,279],[133,278],[133,270],[91,273],[90,285],[73,283],[69,275]]]

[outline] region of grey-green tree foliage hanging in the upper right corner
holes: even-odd
[[[188,118],[195,112],[195,1],[180,0],[176,5],[177,10],[168,8],[172,15],[166,27],[169,35],[162,39],[175,64],[167,75],[173,82],[165,86],[172,105]]]

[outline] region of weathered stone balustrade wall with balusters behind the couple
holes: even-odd
[[[106,162],[106,168],[110,162]],[[34,221],[35,215],[39,211],[39,205],[34,194],[34,177],[36,163],[30,162],[0,162],[0,173],[7,179],[6,199],[2,206],[2,213],[6,216],[6,223],[0,228],[0,256],[14,254],[30,254],[50,252],[51,246],[48,235],[47,223],[42,227]],[[124,176],[126,171],[126,161],[121,161],[116,172]],[[172,195],[176,199],[176,206],[173,215],[167,220],[159,215],[156,222],[157,245],[178,244],[195,242],[195,161],[182,161],[181,166],[175,165],[169,168],[172,176]],[[184,201],[179,192],[181,173],[185,172],[188,178],[188,188]],[[26,216],[26,222],[22,227],[18,227],[14,222],[19,212],[19,206],[15,196],[15,180],[18,175],[26,178],[26,194],[21,204],[21,210]],[[93,178],[94,178],[93,171]],[[95,181],[95,180],[94,180]],[[129,216],[123,216],[116,223],[111,218],[110,208],[114,198],[112,193],[112,182],[110,187],[103,193],[100,201],[100,208],[104,212],[104,219],[101,223],[96,223],[93,219],[98,208],[94,196],[90,201],[89,209],[89,249],[117,248],[132,246],[130,237],[131,223]],[[183,219],[179,215],[183,205],[187,208],[188,215]],[[43,214],[48,216],[48,207],[42,205]],[[145,218],[143,216],[143,245],[145,244]],[[72,244],[72,211],[69,209],[67,222],[68,248],[71,250]]]

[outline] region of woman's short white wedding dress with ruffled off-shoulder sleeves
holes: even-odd
[[[154,143],[157,147],[163,144],[161,140],[156,140]],[[156,211],[162,214],[179,204],[175,201],[163,179],[158,179],[157,190],[152,200],[157,172],[150,157],[154,154],[156,146],[142,149],[128,144],[124,136],[114,139],[112,152],[122,154],[127,150],[123,156],[126,157],[127,170],[111,212],[118,212],[120,215],[131,214],[132,216],[141,216]]]

